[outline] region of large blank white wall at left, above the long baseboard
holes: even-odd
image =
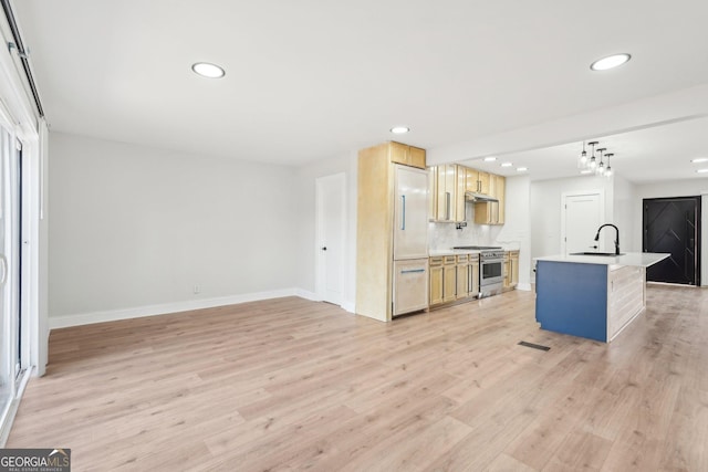
[[[294,291],[292,168],[60,133],[50,147],[50,325]]]

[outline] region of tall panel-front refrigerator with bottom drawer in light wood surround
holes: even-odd
[[[428,171],[396,165],[393,316],[428,307]]]

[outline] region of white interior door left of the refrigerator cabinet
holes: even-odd
[[[335,174],[315,182],[317,228],[317,296],[342,305],[344,287],[344,232],[346,222],[346,176]]]

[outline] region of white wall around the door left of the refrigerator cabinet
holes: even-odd
[[[315,218],[315,181],[344,172],[346,176],[346,230],[344,241],[344,293],[342,307],[354,312],[356,300],[356,169],[357,153],[325,159],[303,166],[296,171],[295,193],[298,201],[298,249],[296,282],[298,286],[316,298],[315,261],[316,261],[316,218]]]

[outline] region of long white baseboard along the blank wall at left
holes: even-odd
[[[133,308],[110,310],[105,312],[80,313],[75,315],[50,316],[49,328],[59,329],[72,326],[91,325],[94,323],[117,322],[121,319],[142,318],[145,316],[166,315],[169,313],[189,312],[192,310],[214,308],[216,306],[235,305],[238,303],[258,302],[261,300],[281,298],[283,296],[299,296],[317,302],[316,295],[301,289],[283,289],[269,292],[247,293],[216,298],[202,298],[186,302],[163,303],[157,305],[137,306]]]

